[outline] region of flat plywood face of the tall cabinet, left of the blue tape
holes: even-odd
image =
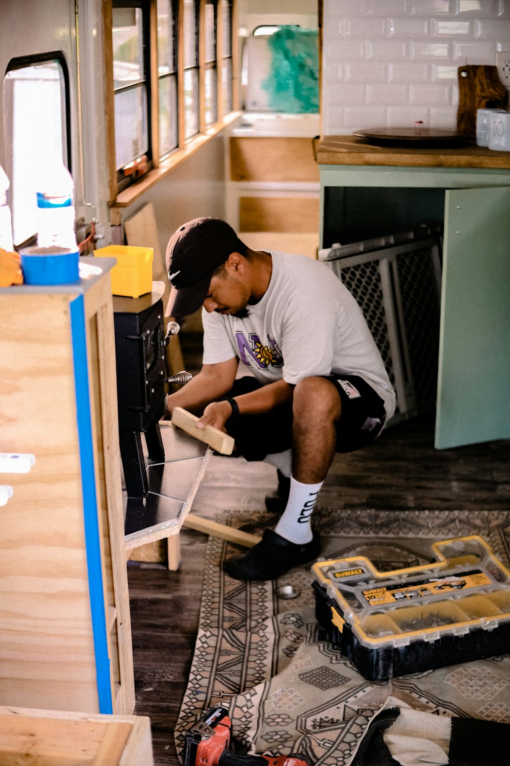
[[[0,703],[98,710],[76,425],[70,296],[2,295],[2,450],[33,453],[5,474]],[[31,416],[32,414],[32,416]]]

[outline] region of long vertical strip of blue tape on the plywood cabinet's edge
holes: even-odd
[[[96,497],[96,472],[92,422],[90,415],[89,371],[86,358],[85,304],[83,295],[70,303],[71,336],[73,339],[74,388],[78,414],[78,440],[82,471],[83,519],[85,523],[85,546],[89,576],[90,610],[96,655],[97,692],[99,712],[112,713],[112,685],[110,683],[110,660],[106,635],[106,609],[102,583],[101,543]]]

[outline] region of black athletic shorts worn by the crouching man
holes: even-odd
[[[358,375],[322,375],[333,383],[342,402],[337,426],[336,452],[354,452],[367,447],[381,433],[386,411],[382,398]],[[234,381],[225,398],[256,391],[262,384],[246,375]],[[236,454],[246,460],[264,460],[271,453],[292,447],[292,403],[271,412],[242,415],[228,429],[236,442]]]

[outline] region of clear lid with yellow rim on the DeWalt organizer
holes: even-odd
[[[366,645],[437,640],[510,620],[510,571],[478,535],[435,542],[430,565],[378,571],[368,558],[317,561],[313,576],[332,599],[333,624]]]

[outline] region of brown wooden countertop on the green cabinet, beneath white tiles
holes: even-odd
[[[510,170],[510,152],[498,152],[466,142],[437,149],[418,146],[376,146],[356,136],[323,136],[318,165],[393,165],[425,168],[483,168]]]

